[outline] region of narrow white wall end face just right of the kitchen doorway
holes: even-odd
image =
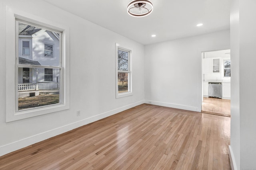
[[[230,160],[235,170],[240,169],[240,74],[239,74],[239,8],[234,0],[230,8],[230,51],[231,51],[231,122]]]

